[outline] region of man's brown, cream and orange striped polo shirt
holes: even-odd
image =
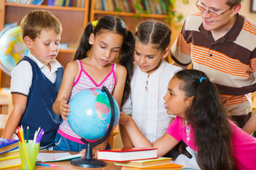
[[[214,40],[203,28],[200,13],[186,18],[171,47],[174,62],[205,72],[220,90],[221,100],[231,115],[252,112],[250,92],[256,90],[256,24],[237,15],[233,27]]]

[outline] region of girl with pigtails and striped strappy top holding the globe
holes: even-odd
[[[65,67],[63,83],[53,104],[54,113],[63,117],[55,137],[55,150],[79,152],[86,147],[66,118],[70,112],[68,101],[79,91],[106,86],[121,108],[130,91],[133,52],[134,37],[122,19],[104,16],[86,26],[74,61]],[[94,147],[93,152],[105,149],[108,140]]]

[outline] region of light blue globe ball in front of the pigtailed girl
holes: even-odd
[[[113,97],[112,97],[113,98]],[[114,128],[119,121],[119,106],[114,100]],[[85,89],[70,100],[70,128],[85,140],[100,140],[110,128],[111,108],[105,91]]]

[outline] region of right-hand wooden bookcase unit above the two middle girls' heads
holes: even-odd
[[[98,4],[99,3],[105,3],[105,6],[112,6],[111,11],[104,11],[99,9]],[[163,23],[166,23],[168,26],[171,26],[171,21],[168,21],[169,16],[166,14],[156,14],[156,13],[145,13],[145,11],[142,11],[141,13],[134,13],[134,12],[127,12],[127,11],[113,11],[113,8],[116,8],[114,6],[114,1],[132,1],[134,4],[137,4],[137,0],[92,0],[90,5],[90,22],[94,20],[98,20],[102,16],[118,16],[119,18],[122,18],[126,26],[129,28],[129,30],[132,31],[132,33],[135,33],[136,26],[141,23],[142,21],[147,21],[154,19],[156,21],[161,21]],[[147,1],[154,1],[154,0],[147,0]],[[135,3],[136,2],[136,3]]]

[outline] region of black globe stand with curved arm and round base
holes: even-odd
[[[110,107],[111,107],[111,118],[110,118],[110,128],[108,128],[106,134],[97,142],[88,142],[84,138],[81,138],[81,141],[84,142],[87,147],[85,151],[85,158],[78,158],[78,159],[72,159],[70,164],[74,166],[80,166],[84,168],[101,168],[106,166],[104,161],[93,159],[92,158],[92,147],[99,145],[103,141],[107,139],[107,137],[110,135],[110,132],[112,132],[112,128],[114,125],[114,101],[110,94],[110,91],[107,90],[105,86],[102,87],[102,91],[105,91],[107,94],[107,97],[110,100]]]

